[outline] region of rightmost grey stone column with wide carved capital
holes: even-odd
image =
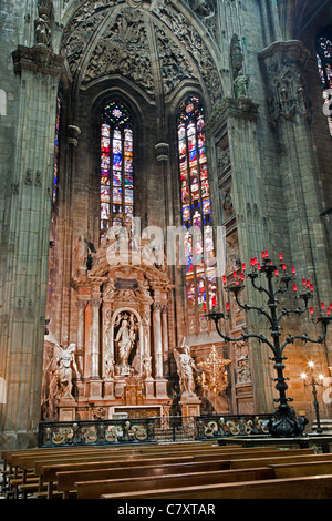
[[[269,116],[280,143],[280,171],[284,205],[290,223],[291,251],[297,273],[311,278],[318,303],[330,302],[330,259],[320,214],[324,194],[320,191],[315,146],[311,133],[311,101],[303,72],[310,51],[297,40],[278,41],[263,49],[260,62],[267,84]],[[303,225],[304,224],[304,225]]]

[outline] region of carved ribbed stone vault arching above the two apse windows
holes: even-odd
[[[186,2],[167,2],[167,9],[158,2],[147,12],[129,1],[85,1],[64,28],[65,73],[75,89],[117,74],[152,103],[160,95],[167,101],[184,79],[196,79],[215,103],[225,86],[209,19]]]

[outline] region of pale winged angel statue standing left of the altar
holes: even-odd
[[[76,377],[81,378],[74,356],[75,349],[76,345],[74,343],[71,343],[66,349],[62,349],[62,347],[55,346],[55,367],[53,367],[53,371],[54,376],[56,374],[59,381],[59,396],[62,398],[73,398],[73,370],[75,371]]]

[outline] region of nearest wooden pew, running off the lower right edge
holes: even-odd
[[[101,499],[331,499],[332,474],[102,494]]]

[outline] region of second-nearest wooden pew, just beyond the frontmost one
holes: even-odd
[[[229,483],[240,481],[273,479],[272,468],[245,470],[217,470],[209,472],[193,472],[184,474],[169,474],[159,477],[138,477],[113,480],[79,481],[75,483],[77,499],[100,499],[105,493],[132,492],[158,489],[179,489],[183,487]]]

